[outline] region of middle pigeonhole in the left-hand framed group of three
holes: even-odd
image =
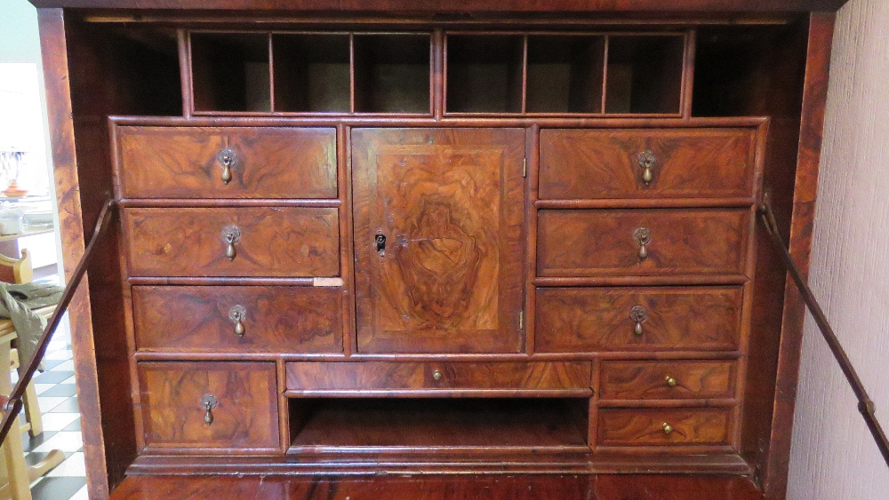
[[[348,35],[273,35],[272,60],[275,111],[349,112]]]

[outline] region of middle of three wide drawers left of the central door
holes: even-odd
[[[340,275],[337,209],[130,208],[122,218],[131,276]]]

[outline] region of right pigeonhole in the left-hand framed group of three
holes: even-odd
[[[356,35],[356,113],[431,113],[428,34]]]

